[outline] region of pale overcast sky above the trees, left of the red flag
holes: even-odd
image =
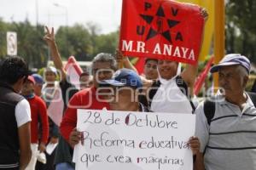
[[[0,17],[4,21],[28,18],[35,25],[37,1],[38,22],[46,26],[85,26],[93,21],[101,27],[101,33],[108,33],[120,24],[122,0],[0,0]]]

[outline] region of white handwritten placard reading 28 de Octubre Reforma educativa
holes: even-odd
[[[78,110],[76,169],[192,170],[195,115]]]

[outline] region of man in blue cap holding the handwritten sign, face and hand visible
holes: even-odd
[[[138,102],[138,94],[143,82],[135,71],[121,69],[114,73],[112,79],[104,80],[100,84],[102,87],[109,86],[114,92],[109,99],[110,110],[148,112],[148,108]],[[128,123],[129,117],[125,121]],[[194,154],[199,152],[198,138],[191,137],[189,144]]]

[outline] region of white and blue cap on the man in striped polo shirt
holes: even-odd
[[[221,59],[221,61],[219,61],[218,65],[213,65],[210,71],[212,73],[218,72],[221,67],[229,65],[241,65],[248,73],[251,70],[250,60],[247,59],[247,57],[241,54],[227,54],[223,59]]]

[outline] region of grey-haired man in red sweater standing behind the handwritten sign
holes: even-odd
[[[77,139],[79,132],[75,129],[77,124],[77,109],[109,109],[108,103],[102,101],[100,99],[101,97],[98,96],[97,88],[98,82],[113,76],[116,65],[116,60],[111,54],[97,54],[92,61],[94,87],[81,90],[70,99],[60,129],[61,135],[71,146],[79,142]]]

